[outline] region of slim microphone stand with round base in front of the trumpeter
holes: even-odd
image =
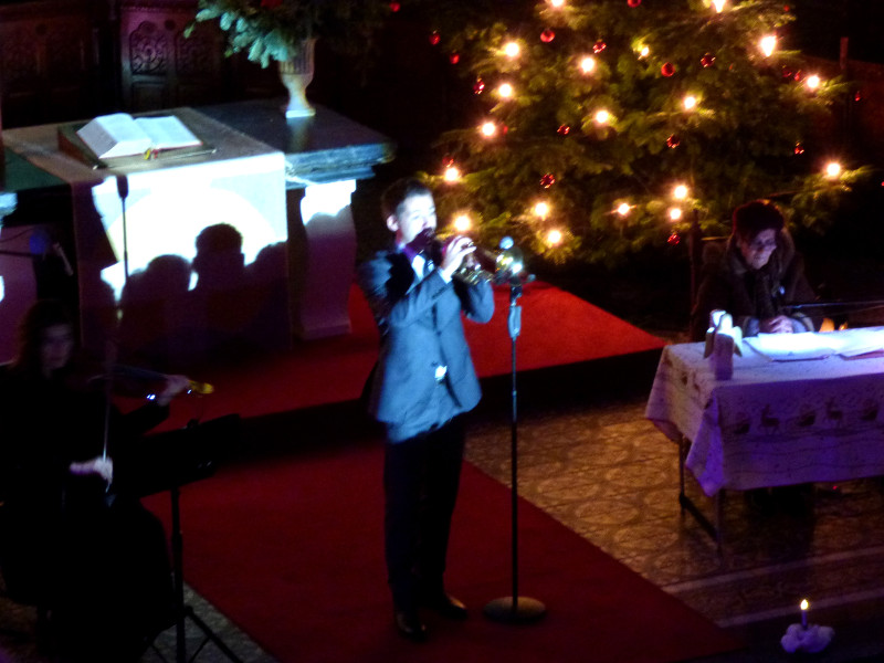
[[[505,623],[535,622],[546,614],[546,607],[536,599],[518,596],[518,417],[516,390],[516,339],[522,332],[522,307],[516,302],[522,296],[522,280],[511,275],[509,283],[509,317],[507,326],[512,339],[512,369],[511,380],[513,386],[513,407],[511,413],[511,482],[512,482],[512,552],[513,552],[513,593],[508,597],[494,599],[485,604],[485,617],[493,621]]]

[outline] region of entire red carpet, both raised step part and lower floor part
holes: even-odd
[[[467,325],[482,377],[509,372],[508,295],[497,293],[490,324]],[[526,287],[519,304],[522,371],[664,345],[543,283]],[[350,316],[350,335],[193,376],[217,388],[197,401],[201,411],[194,413],[203,421],[231,412],[249,419],[356,399],[378,344],[356,288]],[[173,420],[188,414],[194,401],[187,400],[176,401]],[[524,501],[520,594],[543,601],[548,614],[530,625],[486,620],[482,607],[512,593],[511,493],[471,465],[464,467],[448,579],[473,615],[465,623],[430,615],[431,643],[402,641],[385,581],[382,443],[355,434],[317,451],[309,425],[281,430],[285,421],[252,419],[259,429],[270,427],[259,438],[282,441],[275,449],[285,453],[222,466],[217,476],[185,486],[181,497],[185,579],[282,663],[663,663],[735,646],[703,617]],[[336,423],[326,417],[319,425]],[[146,503],[168,525],[168,495]]]

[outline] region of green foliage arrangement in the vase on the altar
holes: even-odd
[[[197,22],[218,21],[227,32],[228,55],[242,51],[264,67],[309,39],[350,52],[364,48],[390,13],[385,0],[199,0],[197,8]]]

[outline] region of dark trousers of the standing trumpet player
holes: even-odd
[[[387,443],[385,545],[388,581],[398,610],[415,610],[422,592],[443,589],[463,450],[460,417],[434,431]]]

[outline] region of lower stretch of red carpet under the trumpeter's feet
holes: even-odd
[[[428,615],[431,642],[392,627],[381,550],[381,443],[223,469],[185,486],[185,579],[282,663],[664,663],[734,649],[703,617],[536,507],[519,507],[519,596],[546,618],[482,607],[512,593],[509,491],[464,467],[449,588],[473,613]],[[149,498],[168,515],[168,497]]]

